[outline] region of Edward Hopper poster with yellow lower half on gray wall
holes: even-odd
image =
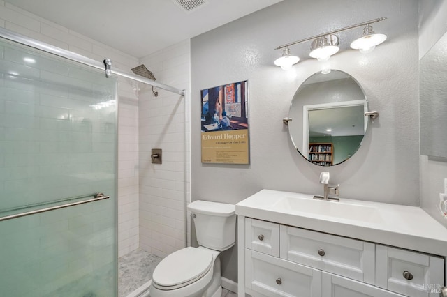
[[[248,81],[200,91],[203,163],[249,164]]]

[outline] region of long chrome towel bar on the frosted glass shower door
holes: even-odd
[[[93,198],[86,199],[86,200],[81,200],[81,201],[73,201],[73,200],[79,200],[79,199],[87,198],[87,197],[93,197]],[[66,207],[70,207],[70,206],[86,204],[86,203],[89,203],[89,202],[99,201],[99,200],[108,199],[108,198],[110,198],[110,196],[105,196],[103,193],[95,193],[95,194],[92,194],[92,195],[85,195],[85,196],[61,199],[61,200],[57,200],[57,201],[43,202],[41,204],[32,204],[30,206],[23,206],[23,207],[18,207],[18,208],[10,208],[10,209],[7,209],[6,211],[0,211],[0,214],[1,213],[10,213],[10,212],[13,212],[13,211],[18,211],[19,209],[23,210],[23,209],[29,209],[29,208],[43,206],[43,205],[56,204],[56,203],[61,203],[61,202],[66,202],[66,201],[73,201],[73,202],[67,203],[67,204],[61,204],[61,205],[57,205],[57,206],[50,206],[50,207],[46,207],[46,208],[39,208],[39,209],[36,209],[34,211],[24,211],[22,213],[15,213],[13,215],[5,215],[3,217],[0,217],[0,222],[1,221],[5,221],[5,220],[10,220],[10,219],[15,219],[15,218],[21,218],[21,217],[24,217],[25,215],[35,215],[37,213],[44,213],[45,211],[54,211],[54,210],[59,209],[59,208],[66,208]]]

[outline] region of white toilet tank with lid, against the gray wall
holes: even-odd
[[[236,241],[236,206],[196,200],[188,205],[193,214],[197,241],[212,250],[228,250]]]

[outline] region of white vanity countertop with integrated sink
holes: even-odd
[[[236,214],[447,257],[447,228],[415,206],[261,190],[236,204]]]

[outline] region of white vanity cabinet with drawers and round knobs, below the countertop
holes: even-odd
[[[238,224],[239,296],[434,297],[444,286],[444,257],[241,215]]]

